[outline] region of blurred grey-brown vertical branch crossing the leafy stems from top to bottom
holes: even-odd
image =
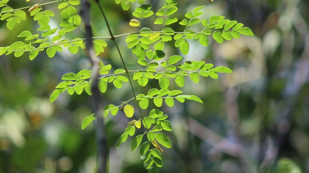
[[[95,51],[92,45],[92,30],[90,25],[90,3],[88,0],[81,1],[81,11],[80,14],[83,18],[85,23],[85,31],[86,31],[86,50],[88,51],[89,61],[92,64],[92,99],[93,99],[93,107],[95,109],[95,116],[96,116],[96,138],[97,138],[97,145],[98,145],[98,173],[105,173],[106,172],[106,160],[107,160],[107,140],[105,135],[105,127],[104,127],[104,119],[101,112],[100,103],[100,91],[99,91],[99,59],[95,55]]]

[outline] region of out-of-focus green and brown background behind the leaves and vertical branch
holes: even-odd
[[[46,1],[10,0],[9,5],[19,8],[37,2]],[[148,0],[148,3],[156,12],[165,1]],[[181,21],[186,12],[205,5],[201,19],[223,15],[248,26],[255,36],[241,36],[222,44],[209,37],[207,47],[190,40],[190,51],[183,61],[203,60],[215,66],[227,66],[233,73],[219,74],[216,80],[201,77],[198,84],[186,78],[182,91],[199,96],[202,104],[187,100],[175,102],[169,108],[163,103],[161,110],[169,115],[174,129],[167,133],[172,148],[163,148],[160,172],[275,172],[278,160],[284,157],[294,160],[303,172],[309,172],[309,1],[214,0],[214,3],[179,0],[174,16]],[[93,4],[94,35],[109,36],[104,19]],[[61,21],[57,5],[44,6],[56,14],[50,22],[52,28]],[[137,31],[129,26],[137,2],[129,11],[123,11],[113,0],[101,0],[101,5],[114,34]],[[40,33],[36,31],[37,22],[27,15],[27,20],[12,31],[6,28],[6,22],[0,22],[0,46],[20,41],[16,36],[23,30]],[[162,26],[154,25],[154,21],[155,15],[143,20],[142,26],[161,30]],[[178,22],[170,27],[184,30]],[[201,27],[191,29],[199,31]],[[84,38],[80,30],[66,37]],[[108,47],[99,57],[114,70],[122,68],[116,47],[107,41]],[[129,70],[141,69],[135,55],[127,49],[125,37],[117,42]],[[173,44],[174,41],[166,44],[166,58],[181,54]],[[66,48],[53,58],[41,52],[33,61],[28,53],[19,58],[1,55],[0,173],[94,171],[95,131],[92,124],[81,129],[84,117],[92,113],[90,96],[85,92],[72,96],[64,92],[54,103],[49,102],[61,76],[90,69],[88,63],[84,50],[71,54]],[[170,86],[179,89],[175,82]],[[159,88],[159,84],[150,80],[147,86],[141,87],[134,81],[134,87],[138,93],[146,93],[150,88]],[[102,95],[104,105],[120,105],[132,97],[129,83],[121,89],[109,85]],[[134,101],[130,104],[136,106]],[[143,113],[148,114],[154,107],[150,104]],[[147,172],[138,150],[130,151],[131,139],[116,149],[116,141],[129,121],[120,111],[105,119],[110,173]]]

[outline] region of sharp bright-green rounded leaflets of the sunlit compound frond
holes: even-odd
[[[51,28],[50,26],[50,20],[55,14],[50,10],[42,9],[42,5],[55,2],[60,2],[58,5],[58,9],[61,10],[59,28]],[[115,0],[115,2],[116,4],[120,4],[123,10],[129,10],[131,3],[136,2],[136,0]],[[224,19],[224,16],[213,15],[209,19],[201,20],[198,17],[203,14],[200,10],[204,6],[196,7],[193,11],[186,13],[184,15],[185,18],[179,22],[180,25],[184,26],[184,30],[182,32],[176,32],[170,27],[166,27],[166,25],[178,22],[178,19],[173,16],[178,10],[176,6],[177,2],[166,0],[166,4],[157,12],[153,12],[149,4],[144,4],[145,0],[137,0],[137,2],[140,6],[132,13],[137,19],[131,19],[129,25],[133,27],[141,26],[142,19],[150,20],[150,16],[158,16],[154,23],[156,25],[163,25],[162,30],[152,31],[150,28],[144,27],[137,33],[115,36],[127,36],[125,39],[125,42],[128,43],[127,47],[129,49],[132,48],[132,53],[136,55],[138,64],[145,67],[143,67],[144,70],[117,69],[112,71],[112,66],[110,64],[104,65],[103,62],[100,61],[99,74],[104,76],[99,77],[99,90],[102,93],[106,92],[108,83],[112,83],[116,88],[121,88],[123,82],[130,81],[131,83],[131,80],[129,80],[130,76],[127,74],[132,72],[134,72],[132,79],[137,80],[139,86],[144,87],[150,80],[158,80],[160,89],[152,88],[147,92],[147,95],[145,95],[146,93],[134,95],[134,98],[123,102],[119,106],[112,104],[106,105],[102,110],[103,117],[108,116],[109,113],[116,115],[120,108],[128,118],[132,118],[134,115],[134,107],[128,104],[128,102],[134,99],[138,101],[138,105],[136,106],[141,109],[148,109],[150,101],[153,101],[156,107],[161,107],[163,99],[168,107],[173,107],[175,105],[175,99],[180,103],[184,103],[186,99],[202,103],[202,100],[195,95],[180,95],[183,93],[183,91],[180,90],[170,91],[168,88],[171,82],[173,82],[171,80],[175,79],[175,83],[183,87],[186,80],[185,76],[188,76],[194,83],[198,83],[201,76],[216,79],[218,78],[218,73],[232,72],[231,69],[224,66],[213,68],[213,64],[204,61],[183,62],[182,60],[184,57],[181,55],[172,55],[164,61],[164,46],[166,42],[170,42],[174,39],[175,47],[179,47],[180,52],[186,55],[190,49],[189,39],[198,39],[201,45],[208,46],[210,39],[208,38],[209,35],[212,35],[214,40],[218,43],[224,42],[224,39],[231,40],[232,38],[239,38],[240,34],[253,36],[252,31],[248,27],[243,27],[242,23],[238,23],[235,20],[231,21]],[[213,1],[210,2],[213,3]],[[8,0],[0,1],[0,7],[5,6],[1,10],[0,19],[6,20],[7,28],[12,30],[21,20],[26,19],[26,13],[21,10],[26,8],[14,10],[9,7],[7,3]],[[18,37],[23,38],[24,41],[15,42],[11,46],[0,47],[0,55],[8,55],[14,52],[16,57],[20,57],[24,52],[29,52],[29,59],[33,60],[40,51],[46,49],[47,56],[52,58],[57,55],[57,52],[61,52],[63,48],[66,47],[72,54],[77,54],[79,50],[85,48],[85,42],[83,42],[85,39],[74,38],[69,40],[65,35],[75,29],[80,29],[83,32],[79,26],[82,22],[81,17],[78,15],[78,10],[73,6],[79,4],[79,0],[58,0],[32,6],[28,9],[28,12],[40,25],[37,29],[39,34],[32,34],[27,30],[21,32]],[[204,26],[203,30],[196,32],[190,29],[191,26],[200,23]],[[53,37],[49,38],[48,36],[51,35],[53,35]],[[103,39],[109,37],[95,38],[93,47],[96,55],[104,52],[104,47],[108,46],[104,40],[99,38]],[[154,47],[154,49],[150,49],[150,47]],[[56,86],[55,91],[50,95],[50,102],[54,102],[64,91],[67,91],[69,95],[73,95],[74,93],[80,95],[83,91],[88,95],[92,95],[92,70],[83,69],[76,74],[67,73],[64,74],[61,79],[64,81]],[[144,163],[145,169],[148,169],[149,172],[158,172],[158,167],[163,166],[161,154],[163,150],[160,145],[167,148],[170,148],[172,145],[170,139],[164,133],[166,131],[172,131],[173,129],[171,122],[167,120],[167,118],[168,115],[163,114],[159,109],[152,109],[147,117],[141,115],[141,119],[132,120],[128,123],[128,127],[120,136],[117,148],[120,147],[121,143],[125,142],[129,136],[134,136],[136,128],[141,128],[143,124],[145,132],[142,135],[137,134],[132,139],[131,151],[135,151],[141,145],[143,139],[147,140],[142,143],[140,147],[141,160]],[[83,120],[82,129],[86,128],[94,119],[94,114],[87,116]],[[145,134],[147,139],[143,138]]]

